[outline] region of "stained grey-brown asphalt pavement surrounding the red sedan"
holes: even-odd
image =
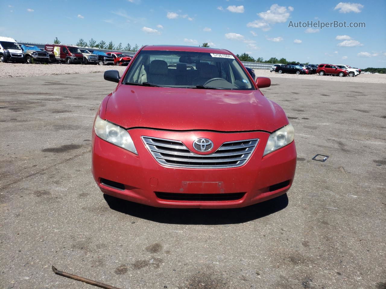
[[[122,289],[384,289],[386,85],[272,84],[296,133],[288,198],[180,210],[107,203],[95,185],[93,117],[115,87],[102,73],[2,79],[0,288],[95,288],[55,265]]]

